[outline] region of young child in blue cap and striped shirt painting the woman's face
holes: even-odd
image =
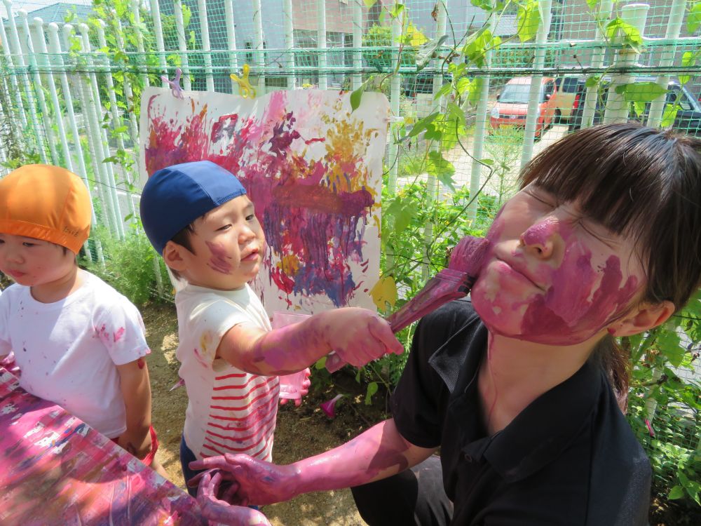
[[[386,321],[367,309],[318,313],[272,330],[248,285],[265,236],[239,180],[210,161],[158,170],[141,198],[144,230],[177,278],[181,362],[188,395],[180,461],[245,453],[271,460],[278,375],[304,370],[330,351],[361,366],[401,353]],[[190,489],[192,494],[195,490]]]

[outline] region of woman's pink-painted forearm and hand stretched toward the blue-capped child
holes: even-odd
[[[437,448],[413,445],[397,431],[394,420],[381,422],[350,442],[315,457],[287,466],[248,457],[226,454],[193,461],[193,469],[219,469],[221,476],[201,480],[199,493],[202,504],[273,504],[297,495],[325,490],[337,490],[373,482],[415,466],[430,457]],[[205,472],[207,473],[207,472]],[[219,495],[219,483],[231,483],[225,495]],[[217,506],[221,511],[222,506]],[[221,513],[219,514],[221,517]],[[212,516],[213,518],[213,516]]]

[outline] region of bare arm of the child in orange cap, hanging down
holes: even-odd
[[[127,417],[127,430],[117,443],[137,459],[151,451],[151,384],[144,358],[117,365]]]

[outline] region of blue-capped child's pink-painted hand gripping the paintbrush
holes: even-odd
[[[329,348],[343,362],[362,367],[385,354],[404,352],[389,323],[372,311],[348,307],[319,316]]]

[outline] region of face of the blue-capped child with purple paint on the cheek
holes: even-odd
[[[190,283],[234,290],[255,278],[265,253],[265,236],[247,196],[211,210],[194,227],[190,236],[194,253],[183,251]]]

